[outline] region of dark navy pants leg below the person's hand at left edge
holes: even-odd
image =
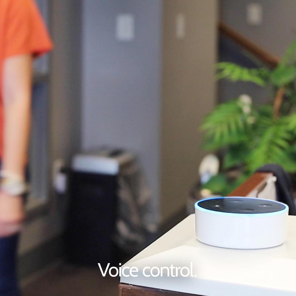
[[[20,296],[16,260],[19,234],[0,238],[0,296]]]

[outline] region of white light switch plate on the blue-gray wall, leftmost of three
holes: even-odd
[[[133,14],[117,15],[116,38],[120,41],[132,41],[135,38],[135,18]]]

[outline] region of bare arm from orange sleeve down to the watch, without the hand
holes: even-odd
[[[2,169],[24,174],[30,128],[32,57],[10,57],[3,65],[4,138]]]

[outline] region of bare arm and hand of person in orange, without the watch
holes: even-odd
[[[30,55],[9,57],[4,61],[2,170],[18,176],[24,176],[27,161],[31,73],[32,57]],[[23,217],[22,198],[0,191],[0,236],[5,235],[7,229],[8,232],[14,229],[11,223],[21,221]],[[5,226],[7,222],[10,224],[8,228]]]

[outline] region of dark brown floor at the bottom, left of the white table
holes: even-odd
[[[62,265],[23,288],[23,296],[117,296],[118,277],[98,268]]]

